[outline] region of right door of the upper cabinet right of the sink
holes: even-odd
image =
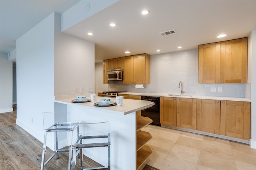
[[[247,38],[221,42],[220,80],[247,83]]]

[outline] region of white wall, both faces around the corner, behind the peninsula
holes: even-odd
[[[57,13],[16,42],[16,123],[43,141],[42,112],[55,111],[54,96],[94,88],[94,43],[61,33]]]

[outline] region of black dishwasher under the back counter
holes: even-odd
[[[155,103],[154,106],[142,110],[141,115],[152,119],[152,121],[153,121],[151,123],[152,125],[161,126],[161,124],[160,124],[160,97],[141,96],[141,100],[148,100],[150,102]]]

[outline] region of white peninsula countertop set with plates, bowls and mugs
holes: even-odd
[[[72,105],[72,106],[79,106],[79,107],[85,107],[89,109],[94,110],[104,110],[106,112],[110,113],[116,113],[120,115],[126,115],[129,113],[132,113],[134,111],[139,111],[142,109],[146,109],[148,107],[151,107],[154,105],[153,102],[150,101],[144,101],[144,100],[131,100],[131,99],[124,99],[122,106],[107,106],[107,107],[99,107],[94,106],[95,102],[83,102],[83,103],[72,103],[71,101],[76,99],[79,95],[69,95],[69,96],[55,96],[55,102]],[[88,95],[86,95],[87,98],[90,98]],[[97,97],[96,102],[100,102],[100,99],[105,97]],[[112,102],[116,102],[116,98],[110,98]]]

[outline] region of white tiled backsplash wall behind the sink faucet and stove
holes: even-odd
[[[180,81],[184,86],[184,94],[198,96],[245,97],[248,87],[247,84],[198,84],[198,49],[192,49],[150,55],[150,84],[146,84],[144,89],[135,90],[134,84],[110,81],[108,90],[180,94]],[[216,92],[210,92],[211,87],[215,87]],[[218,92],[218,87],[222,87],[222,92]]]

